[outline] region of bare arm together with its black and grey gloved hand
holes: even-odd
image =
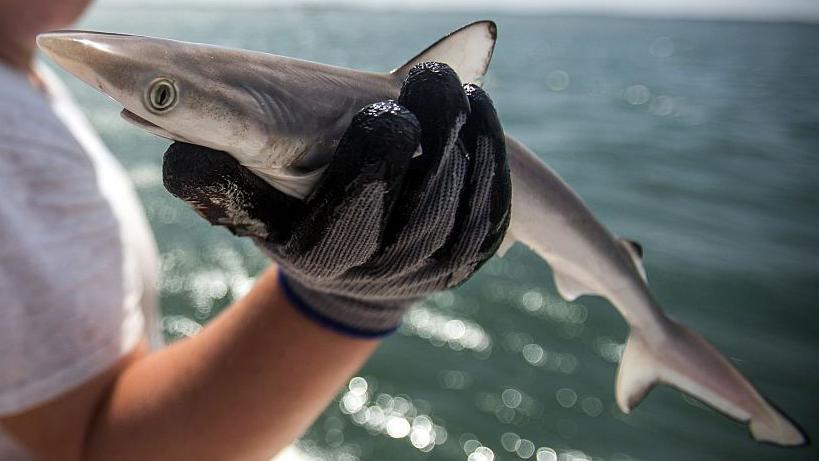
[[[423,154],[414,155],[419,143]],[[279,264],[202,329],[1,424],[43,459],[265,459],[293,442],[410,305],[466,280],[509,224],[489,97],[441,64],[362,109],[315,190],[285,196],[174,143],[165,187]]]

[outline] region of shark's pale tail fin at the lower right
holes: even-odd
[[[750,424],[758,441],[803,445],[806,435],[768,403],[702,336],[671,320],[652,343],[634,329],[617,372],[617,405],[628,413],[656,383],[675,387],[720,412]]]

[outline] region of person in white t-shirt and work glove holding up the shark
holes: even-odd
[[[160,348],[134,190],[32,64],[35,35],[86,3],[0,0],[0,459],[267,459],[413,302],[495,252],[511,198],[502,128],[486,93],[425,63],[397,101],[354,117],[305,201],[225,153],[172,144],[165,187],[274,263]]]

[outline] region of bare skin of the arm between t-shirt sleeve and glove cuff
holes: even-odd
[[[3,428],[43,460],[269,458],[378,344],[306,318],[275,272],[199,335],[135,351],[80,388],[3,418]]]

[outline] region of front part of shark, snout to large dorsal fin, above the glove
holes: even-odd
[[[464,82],[486,72],[496,29],[464,26],[390,73],[360,72],[284,56],[137,35],[41,34],[54,62],[164,138],[225,151],[274,187],[309,193],[355,113],[397,98],[417,63],[449,64]]]

